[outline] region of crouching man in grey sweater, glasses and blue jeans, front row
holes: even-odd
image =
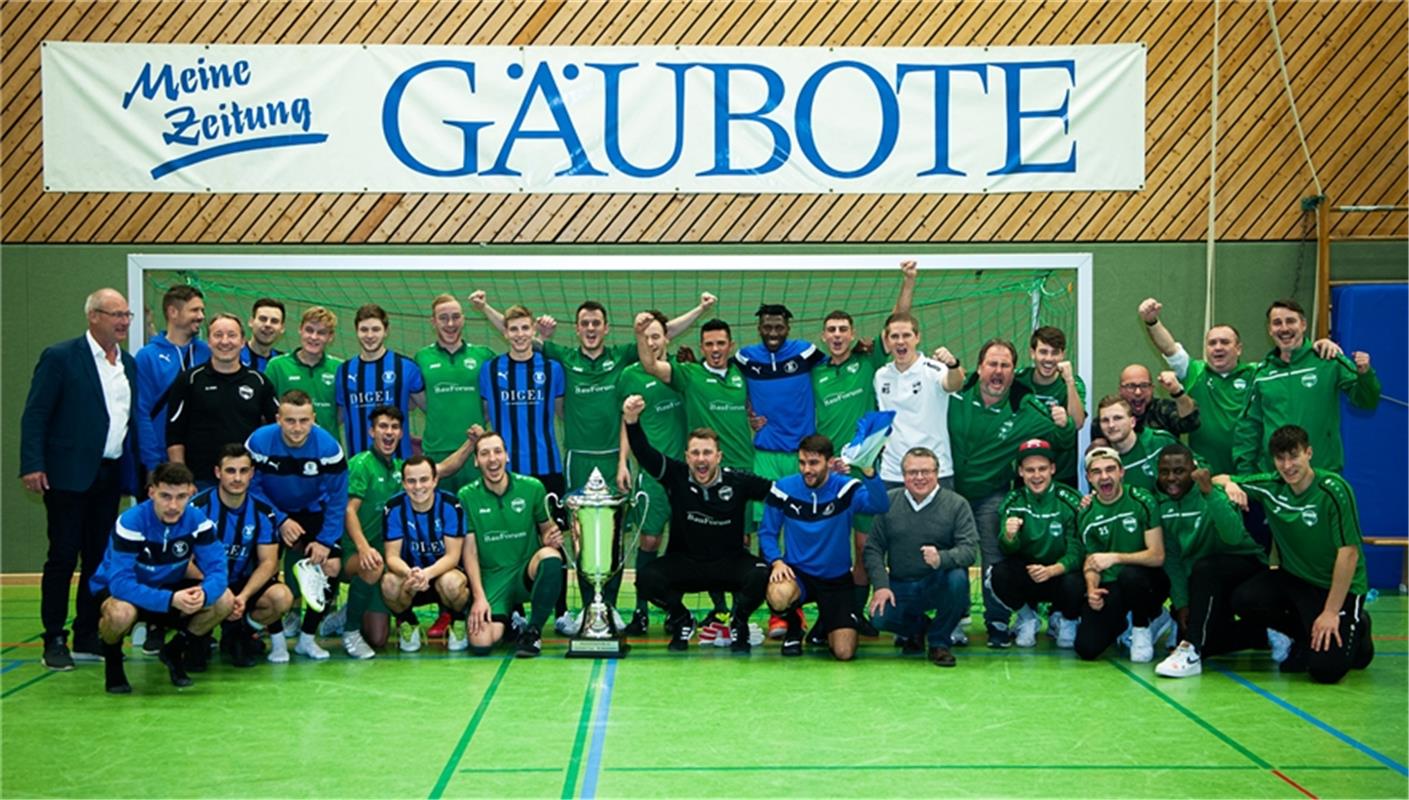
[[[864,551],[875,587],[871,621],[899,634],[906,652],[919,652],[926,638],[930,662],[954,666],[954,628],[968,611],[968,568],[978,559],[974,511],[940,486],[934,451],[910,448],[900,472],[905,486],[888,493],[890,508],[872,523]]]

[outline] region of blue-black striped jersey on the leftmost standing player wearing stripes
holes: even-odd
[[[372,408],[396,406],[409,421],[411,418],[411,394],[426,392],[421,368],[402,354],[386,351],[376,361],[349,358],[338,365],[334,379],[334,401],[342,410],[344,428],[348,437],[348,458],[372,449]],[[400,458],[411,458],[410,428],[402,437]]]

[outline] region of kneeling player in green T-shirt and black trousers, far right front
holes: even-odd
[[[1248,579],[1233,593],[1233,611],[1291,637],[1282,672],[1308,672],[1336,683],[1375,658],[1365,611],[1365,559],[1360,511],[1346,479],[1312,468],[1312,445],[1298,425],[1282,425],[1268,442],[1275,475],[1239,476],[1229,497],[1262,501],[1281,569]],[[1222,479],[1223,476],[1220,476]]]

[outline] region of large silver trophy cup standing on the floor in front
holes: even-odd
[[[582,627],[568,639],[568,658],[621,658],[627,652],[626,638],[613,624],[612,608],[602,599],[602,587],[616,577],[626,566],[626,554],[635,548],[641,538],[641,523],[650,508],[651,499],[645,492],[635,494],[614,494],[607,486],[602,470],[593,469],[588,485],[578,492],[558,497],[550,493],[545,499],[548,514],[552,507],[566,508],[578,537],[568,551],[568,565],[588,576],[592,583],[592,603],[586,608]],[[627,541],[626,520],[621,521],[623,535],[617,538],[617,514],[626,514],[641,506],[637,514],[635,532]],[[566,544],[568,539],[564,539]],[[613,563],[616,568],[613,568]]]

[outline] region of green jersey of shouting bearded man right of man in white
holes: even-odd
[[[985,406],[976,383],[950,397],[948,425],[954,489],[971,503],[1012,486],[1017,445],[1024,441],[1047,439],[1054,448],[1076,442],[1076,425],[1067,420],[1058,428],[1047,404],[1030,392],[1010,392]]]

